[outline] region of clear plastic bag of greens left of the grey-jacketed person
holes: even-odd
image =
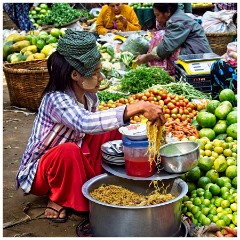
[[[146,54],[149,47],[149,41],[139,33],[130,35],[120,47],[122,52],[131,52],[134,57]]]

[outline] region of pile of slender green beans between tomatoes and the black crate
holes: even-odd
[[[187,98],[188,100],[200,98],[211,99],[210,93],[209,94],[203,93],[197,90],[194,86],[192,86],[188,82],[184,81],[172,82],[166,85],[156,85],[154,87],[164,88],[170,94],[185,96],[185,98]]]

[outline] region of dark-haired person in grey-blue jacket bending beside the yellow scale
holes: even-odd
[[[212,52],[201,25],[179,9],[177,3],[154,3],[153,12],[160,31],[153,36],[148,53],[137,57],[137,64],[152,62],[150,65],[161,66],[162,60],[171,58],[165,69],[171,71],[178,55]]]

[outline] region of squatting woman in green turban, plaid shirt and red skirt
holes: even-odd
[[[82,185],[103,172],[101,145],[121,139],[130,117],[165,124],[162,107],[145,101],[97,111],[100,58],[92,33],[67,29],[47,60],[49,83],[16,179],[25,193],[48,196],[54,222],[66,221],[67,209],[89,210]]]

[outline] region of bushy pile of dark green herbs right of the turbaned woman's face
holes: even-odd
[[[138,66],[127,72],[121,79],[121,91],[126,93],[140,93],[155,84],[172,82],[171,76],[161,67]]]

